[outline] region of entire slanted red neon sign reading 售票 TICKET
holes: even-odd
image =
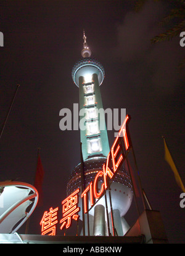
[[[91,181],[88,187],[86,187],[81,193],[81,199],[83,200],[83,203],[84,203],[83,204],[84,214],[88,213],[88,211],[90,211],[92,207],[96,205],[97,201],[99,201],[102,198],[102,196],[104,196],[106,190],[110,187],[110,184],[112,183],[118,170],[120,170],[120,167],[122,166],[128,152],[131,149],[131,139],[128,131],[128,123],[130,120],[131,120],[130,115],[126,115],[126,118],[123,121],[123,124],[121,125],[120,131],[118,132],[118,135],[115,138],[112,148],[110,149],[110,152],[107,156],[107,161],[102,166],[102,170],[99,170],[99,172],[97,172],[96,177],[94,178],[94,181],[93,182]],[[101,184],[100,192],[97,192],[98,180],[101,177],[103,177],[104,182]],[[80,207],[78,207],[79,192],[80,192],[80,188],[75,190],[75,192],[67,196],[67,198],[65,198],[62,201],[62,214],[63,214],[62,217],[63,218],[60,220],[60,223],[62,223],[60,229],[63,229],[64,227],[65,229],[68,229],[72,224],[72,221],[71,221],[72,219],[77,221],[79,217],[78,212],[80,211]],[[90,205],[91,205],[91,208],[89,209],[88,209],[88,205],[89,205],[88,193],[90,195],[89,199],[90,199]],[[50,213],[52,211],[57,211],[58,209],[59,208],[55,208],[54,210],[52,210],[52,208],[50,208]],[[46,219],[46,221],[44,222],[44,217],[47,214],[48,214],[47,211],[45,211],[43,218],[40,222],[40,225],[42,225],[42,233],[41,233],[42,235],[50,231],[46,228],[49,220]],[[49,222],[50,227],[58,222],[56,213],[52,214],[51,216],[54,218],[51,219]],[[54,222],[52,223],[52,221]],[[45,229],[47,229],[46,231],[44,230],[44,224],[45,224]],[[51,227],[52,232],[49,235],[55,236],[55,226],[52,226],[52,227]]]

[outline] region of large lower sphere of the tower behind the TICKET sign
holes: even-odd
[[[97,172],[99,170],[103,170],[103,164],[106,164],[107,157],[96,156],[86,159],[84,164],[84,183],[85,187],[89,185],[89,183],[95,179]],[[101,190],[102,183],[104,183],[104,177],[101,177],[98,182],[98,189]],[[77,188],[81,187],[81,163],[73,169],[68,183],[67,183],[67,196],[74,192]],[[112,196],[112,207],[113,209],[118,209],[120,211],[120,216],[124,216],[128,209],[130,208],[131,201],[133,199],[132,193],[132,185],[130,182],[130,176],[128,172],[122,167],[110,186],[111,196]],[[108,203],[110,203],[109,198],[107,196]],[[82,205],[80,198],[80,207]],[[101,198],[98,204],[104,205],[105,207],[105,199]],[[89,201],[89,208],[90,201]],[[89,212],[92,216],[94,216],[94,209]],[[80,218],[82,217],[80,213]]]

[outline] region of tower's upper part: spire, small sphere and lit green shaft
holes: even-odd
[[[89,50],[84,35],[83,60],[75,64],[73,81],[79,87],[80,97],[80,138],[83,159],[109,154],[109,140],[105,126],[100,85],[104,80],[104,68],[96,60],[89,58]]]

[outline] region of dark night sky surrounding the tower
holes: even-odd
[[[159,210],[170,243],[185,242],[181,189],[164,159],[162,136],[184,174],[184,55],[180,37],[152,45],[167,27],[158,22],[168,5],[149,1],[134,12],[133,1],[2,1],[0,31],[0,124],[16,85],[17,96],[0,141],[1,181],[33,184],[38,147],[44,167],[43,206],[30,218],[29,234],[40,234],[44,211],[61,205],[73,168],[80,162],[80,130],[61,131],[60,109],[78,103],[72,68],[80,60],[83,29],[92,58],[105,69],[106,108],[126,108],[141,177],[152,208]],[[110,146],[114,131],[108,131]],[[133,214],[129,213],[128,219]],[[130,223],[133,224],[133,223]],[[25,226],[18,231],[25,232]],[[59,231],[57,234],[63,234]]]

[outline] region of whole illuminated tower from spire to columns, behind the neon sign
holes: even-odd
[[[97,172],[102,170],[103,164],[107,161],[110,152],[107,128],[104,115],[99,115],[99,110],[103,108],[100,86],[104,81],[105,71],[102,64],[91,58],[91,50],[88,46],[86,35],[83,31],[83,49],[81,50],[81,60],[77,61],[72,69],[72,79],[79,88],[81,157],[82,161],[72,171],[67,183],[67,196],[77,188],[83,191],[81,179],[81,165],[83,162],[84,187],[94,180]],[[83,118],[83,119],[82,119]],[[104,123],[104,125],[102,125]],[[98,188],[104,182],[99,179]],[[106,198],[105,198],[106,196]],[[85,218],[85,234],[90,236],[124,236],[128,229],[125,221],[125,214],[130,208],[133,200],[130,175],[122,167],[110,185],[109,193],[94,205],[90,206],[88,224]],[[83,219],[82,200],[79,198],[80,219]],[[105,200],[107,203],[105,203]],[[108,207],[107,207],[108,205]],[[113,223],[113,225],[112,225]],[[88,228],[89,227],[89,228]],[[87,229],[88,228],[88,229]],[[111,233],[111,234],[110,234]]]

